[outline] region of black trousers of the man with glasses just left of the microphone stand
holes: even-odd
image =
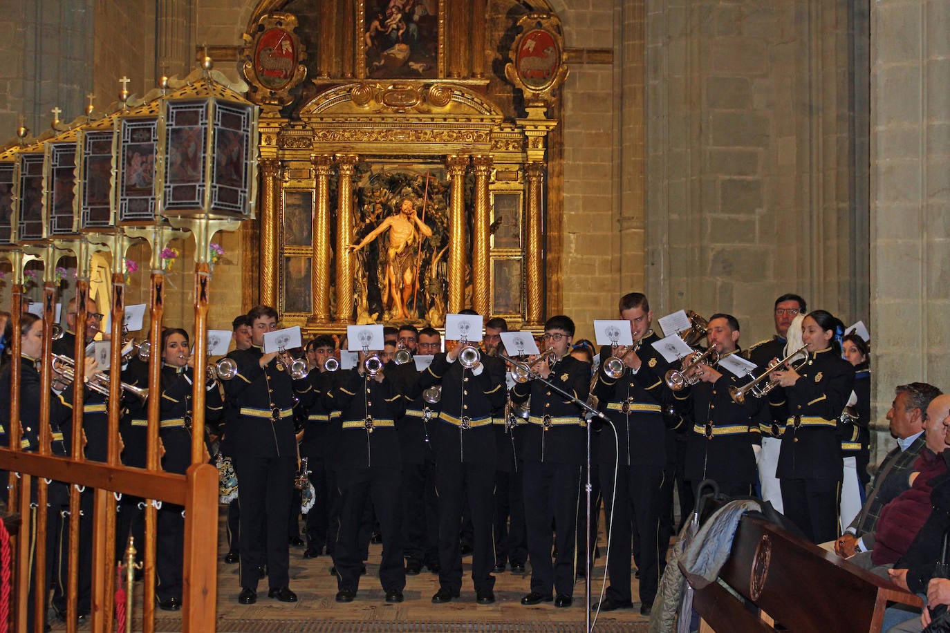
[[[580,466],[525,461],[524,519],[531,558],[531,590],[574,595]],[[558,556],[551,562],[551,525]]]

